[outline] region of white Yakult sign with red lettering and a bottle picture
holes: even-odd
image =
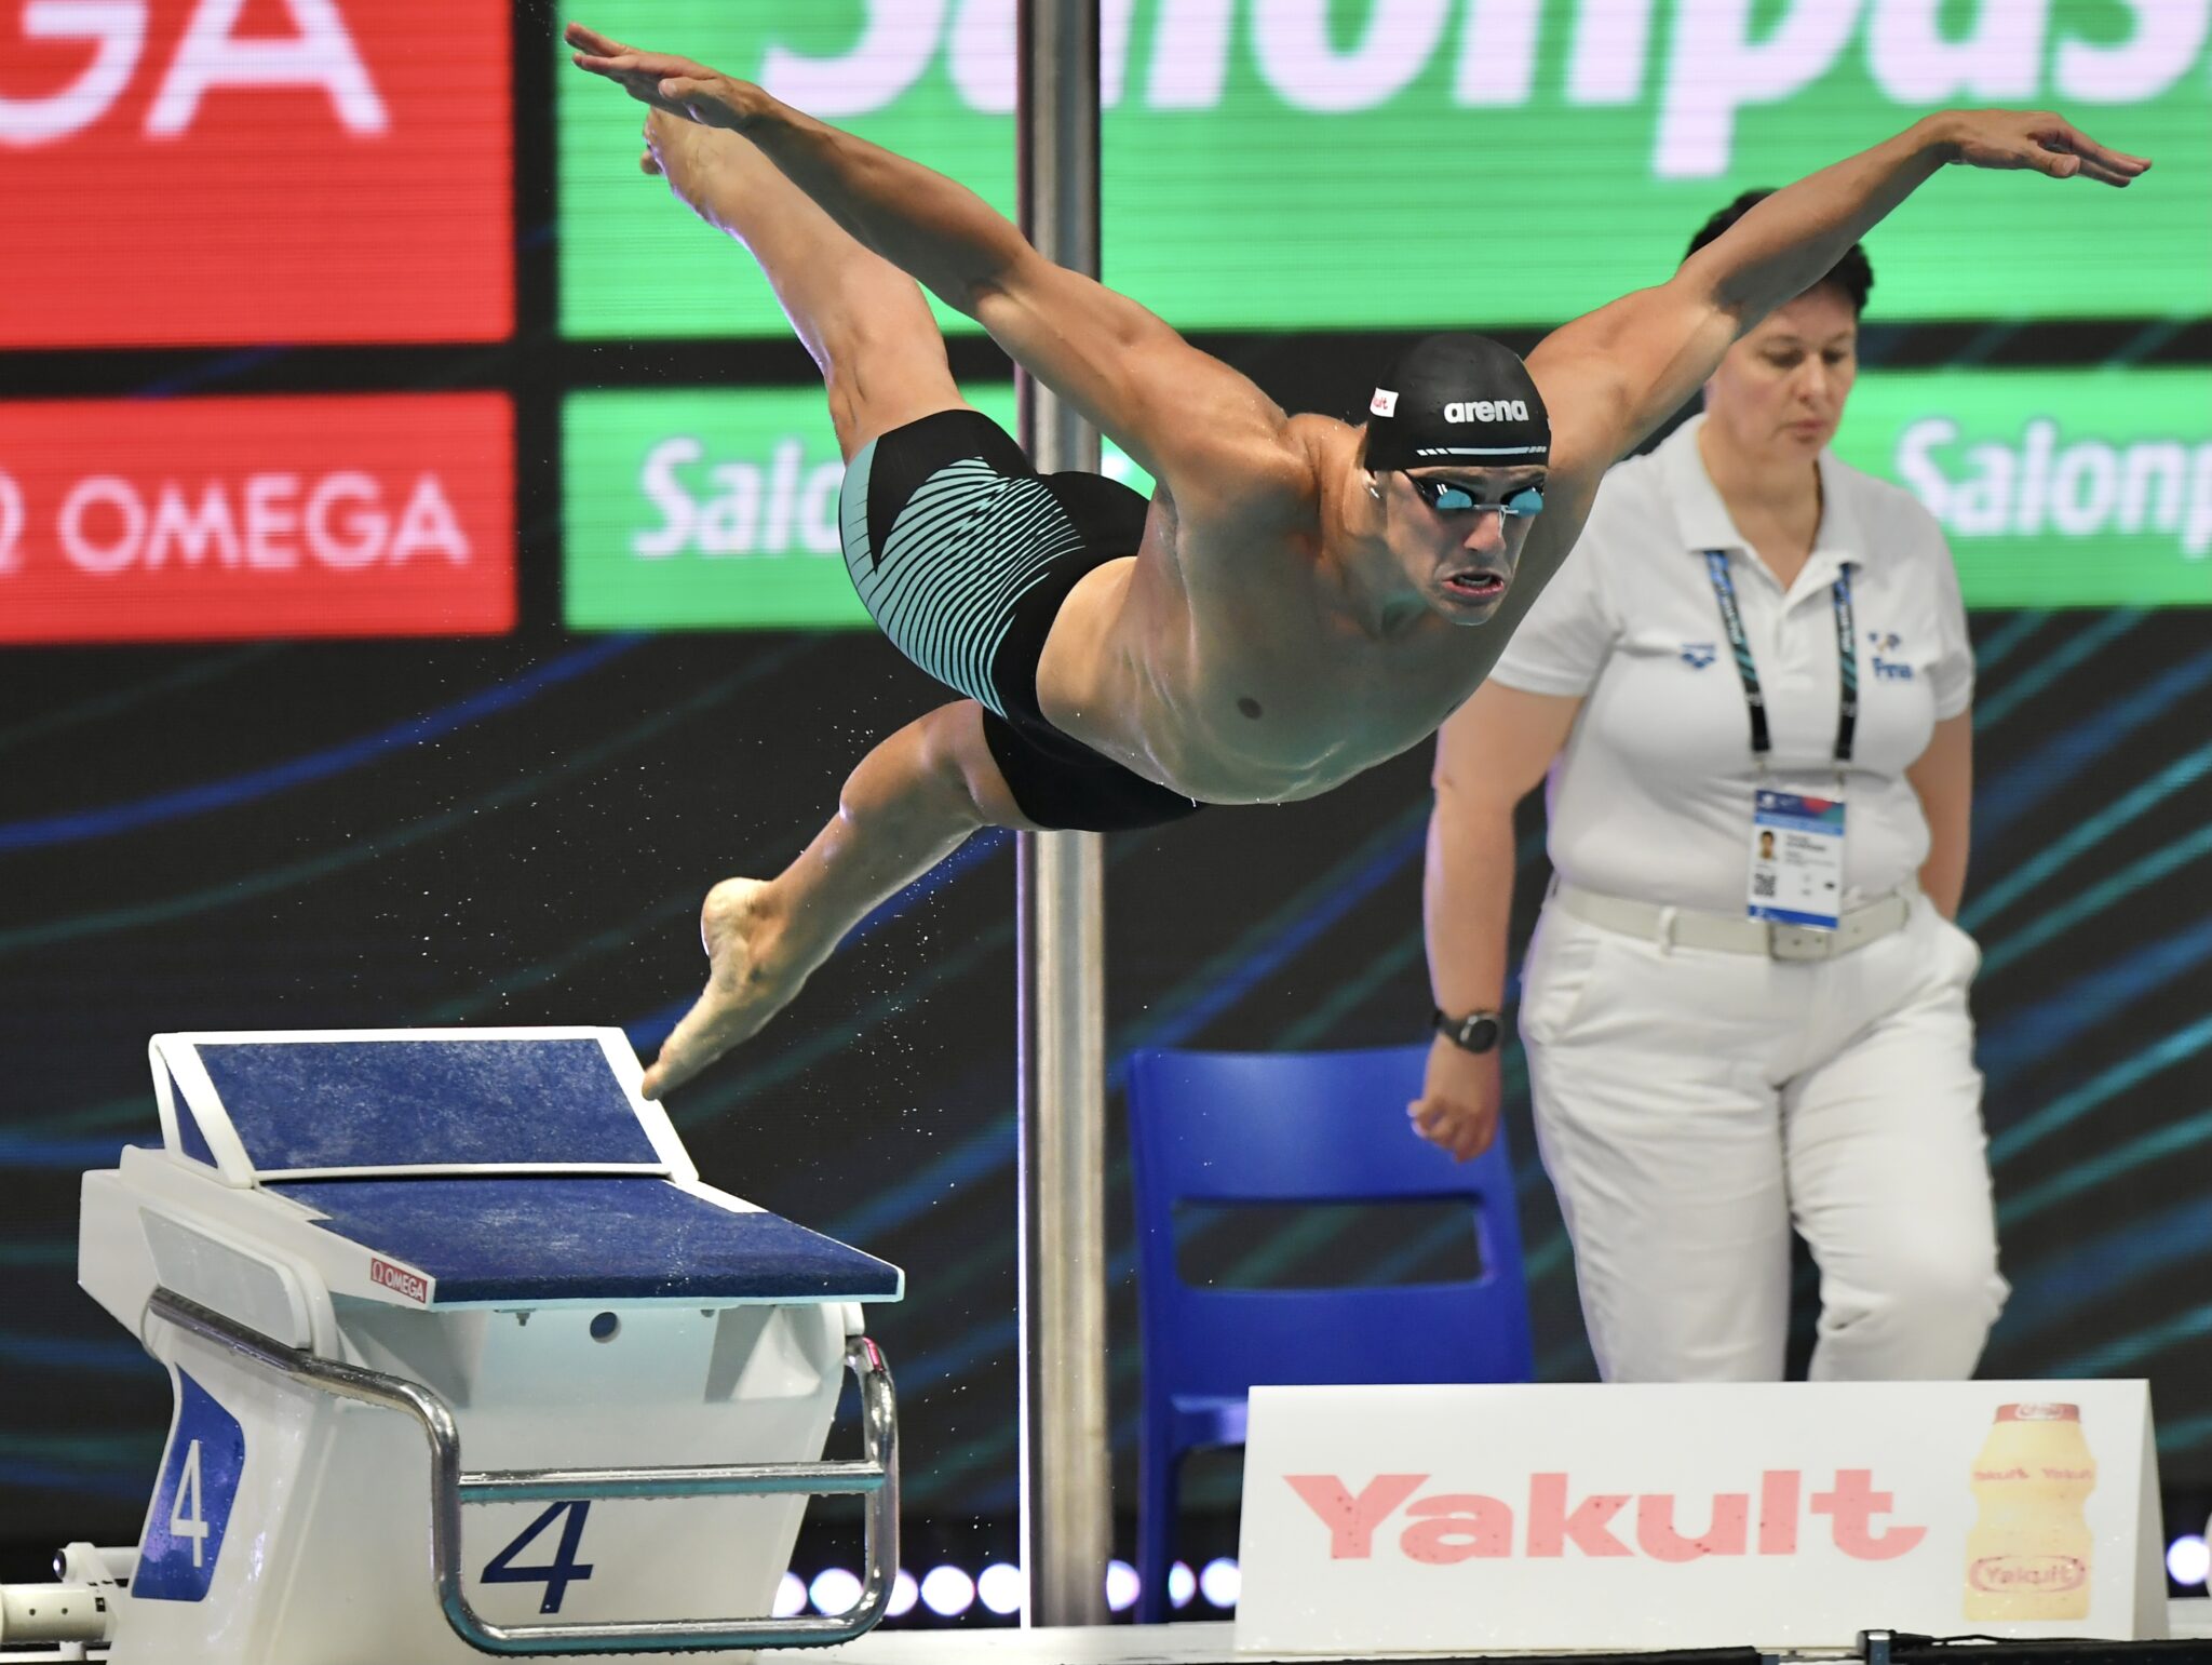
[[[2161,1636],[2141,1382],[1254,1388],[1241,1652]]]

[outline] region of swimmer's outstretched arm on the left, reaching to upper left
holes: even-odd
[[[1183,498],[1250,514],[1305,489],[1283,410],[1159,317],[1037,255],[967,186],[752,82],[568,24],[575,64],[670,115],[743,133],[854,239],[982,323],[1009,356]]]

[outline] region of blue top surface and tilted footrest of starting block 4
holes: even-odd
[[[166,1034],[168,1149],[436,1280],[431,1306],[898,1300],[896,1266],[697,1185],[619,1030]]]

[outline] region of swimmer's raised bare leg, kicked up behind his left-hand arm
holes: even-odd
[[[752,250],[823,372],[847,463],[878,434],[967,405],[920,286],[830,219],[750,139],[653,111],[641,164]]]

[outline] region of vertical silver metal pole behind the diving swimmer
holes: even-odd
[[[1037,250],[1099,270],[1099,4],[1022,0],[1020,215]],[[1040,474],[1097,469],[1099,436],[1015,376]],[[1106,881],[1097,832],[1018,839],[1024,1625],[1106,1623]]]

